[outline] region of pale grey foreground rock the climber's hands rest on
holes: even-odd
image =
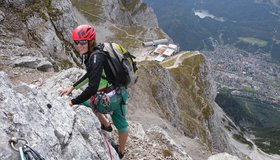
[[[70,83],[66,71],[55,77]],[[59,78],[61,78],[59,80]],[[4,72],[0,73],[1,159],[18,159],[8,146],[11,137],[24,138],[46,159],[110,159],[97,118],[86,107],[70,108],[57,97],[61,83],[50,79],[42,88],[19,84],[12,86]],[[113,159],[118,159],[113,151]]]

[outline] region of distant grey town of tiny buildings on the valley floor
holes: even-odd
[[[253,55],[228,46],[202,52],[211,64],[218,89],[234,89],[232,94],[280,103],[280,66],[269,55]]]

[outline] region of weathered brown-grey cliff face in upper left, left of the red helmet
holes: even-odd
[[[70,1],[4,1],[0,21],[1,65],[13,67],[13,60],[22,56],[45,58],[43,68],[58,70],[75,65],[69,56],[73,54],[69,42],[77,22]]]

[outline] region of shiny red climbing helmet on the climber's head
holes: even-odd
[[[87,24],[82,24],[76,27],[72,32],[72,40],[92,40],[95,39],[96,33],[92,26]]]

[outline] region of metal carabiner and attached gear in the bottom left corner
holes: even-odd
[[[19,141],[24,142],[18,149],[15,147]],[[23,138],[12,137],[9,143],[13,150],[19,152],[20,160],[45,160],[40,154],[28,145],[28,141]]]

